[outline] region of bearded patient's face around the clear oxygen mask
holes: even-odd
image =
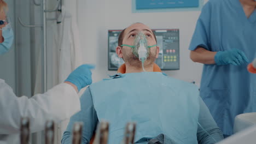
[[[123,44],[133,45],[134,40],[136,38],[136,34],[138,32],[143,32],[146,35],[149,46],[156,44],[156,40],[154,38],[152,30],[148,26],[144,25],[143,23],[135,23],[125,29],[125,32],[123,35]],[[125,62],[129,62],[131,65],[141,67],[141,61],[139,61],[138,57],[133,55],[131,47],[123,46],[122,53],[123,53],[123,58]],[[158,51],[156,46],[151,47],[149,56],[147,58],[147,61],[144,63],[144,65],[152,64],[155,61],[155,58],[157,57],[158,57]]]

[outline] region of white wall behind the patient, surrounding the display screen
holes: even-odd
[[[166,13],[132,13],[131,1],[127,0],[77,0],[78,27],[85,63],[93,63],[93,82],[108,74],[108,29],[124,29],[134,22],[143,22],[150,28],[179,28],[180,70],[164,71],[167,75],[200,83],[202,64],[189,58],[189,43],[200,11]],[[68,6],[67,6],[68,7]]]

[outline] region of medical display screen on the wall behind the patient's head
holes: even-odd
[[[179,69],[179,29],[152,29],[159,46],[159,56],[155,63],[161,70]],[[121,30],[108,31],[108,70],[118,70],[124,63],[117,56],[118,36]]]

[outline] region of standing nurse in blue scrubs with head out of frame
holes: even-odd
[[[256,52],[256,2],[210,0],[202,9],[189,46],[203,63],[200,95],[224,136],[235,116],[256,112],[256,75],[246,66]]]

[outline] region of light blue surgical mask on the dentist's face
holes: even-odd
[[[0,55],[3,55],[10,50],[11,45],[13,44],[14,34],[10,23],[8,23],[0,31],[2,31],[2,36],[4,38],[3,43],[0,43]]]

